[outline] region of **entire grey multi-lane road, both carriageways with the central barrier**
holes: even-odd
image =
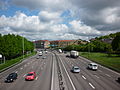
[[[67,58],[64,53],[48,52],[43,56],[47,58],[36,59],[35,55],[0,73],[0,90],[120,90],[117,72],[100,65],[97,71],[88,70],[91,61],[82,57]],[[70,71],[74,65],[80,67],[80,73]],[[25,75],[30,71],[35,71],[37,77],[34,81],[25,81]],[[4,83],[11,72],[17,72],[18,79]]]

